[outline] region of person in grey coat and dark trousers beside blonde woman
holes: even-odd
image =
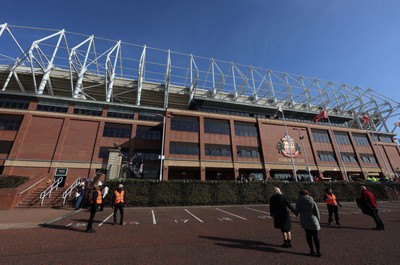
[[[310,256],[321,257],[318,231],[320,215],[318,206],[307,190],[302,190],[296,202],[296,216],[300,214],[301,227],[306,232],[306,240],[310,248]],[[314,252],[314,246],[317,253]]]

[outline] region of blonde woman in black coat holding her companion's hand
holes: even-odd
[[[269,212],[274,218],[274,228],[280,229],[283,236],[282,247],[292,247],[292,235],[290,230],[292,229],[292,221],[290,219],[289,211],[295,213],[294,208],[290,205],[288,198],[282,194],[278,187],[274,188],[274,195],[269,200]]]

